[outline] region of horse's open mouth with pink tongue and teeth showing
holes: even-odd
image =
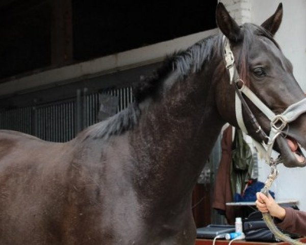
[[[306,151],[292,137],[286,138],[279,136],[276,139],[279,153],[281,153],[282,162],[286,167],[304,167],[306,166]],[[303,153],[304,152],[304,153]]]

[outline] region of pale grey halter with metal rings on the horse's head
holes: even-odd
[[[260,138],[263,140],[262,143],[255,141],[256,146],[257,148],[260,148],[259,150],[262,153],[264,153],[266,163],[271,165],[272,148],[277,136],[279,136],[279,134],[282,133],[282,130],[286,128],[289,122],[294,121],[297,117],[299,117],[301,114],[306,112],[306,98],[293,105],[290,105],[283,113],[275,115],[275,113],[272,110],[270,110],[270,108],[268,108],[259,99],[259,97],[256,94],[254,94],[240,79],[237,67],[235,65],[235,58],[230,47],[230,42],[225,36],[223,36],[222,40],[224,44],[225,67],[228,69],[230,75],[230,84],[234,83],[235,87],[235,110],[236,110],[236,119],[238,122],[238,126],[244,133],[246,134],[248,133],[242,116],[242,106],[243,106],[251,121],[252,127],[255,129],[256,133],[258,133]],[[240,88],[238,87],[239,83],[242,83],[242,86],[240,86]],[[271,130],[269,136],[267,136],[266,133],[262,130],[256,117],[251,112],[247,103],[245,102],[242,94],[248,97],[248,99],[258,109],[260,109],[270,120]],[[278,162],[280,162],[279,159]]]

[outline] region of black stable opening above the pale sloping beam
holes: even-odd
[[[216,27],[217,1],[0,1],[0,82]]]

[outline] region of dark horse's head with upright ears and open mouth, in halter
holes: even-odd
[[[261,27],[254,24],[238,26],[223,4],[218,4],[217,24],[226,37],[223,52],[226,53],[226,42],[230,43],[227,53],[233,51],[236,60],[234,68],[237,69],[225,72],[225,65],[220,64],[224,72],[219,75],[222,82],[217,85],[216,99],[220,114],[230,124],[240,128],[244,125],[248,134],[259,142],[268,141],[265,134],[270,137],[269,140],[275,138],[273,148],[281,154],[285,166],[305,166],[306,160],[302,154],[302,148],[306,148],[306,100],[302,101],[305,95],[292,74],[292,64],[273,39],[282,16],[283,7],[279,4],[276,12]],[[245,106],[242,105],[242,126],[238,117],[236,118],[238,112],[235,108],[235,84],[239,89],[246,87],[254,93],[254,96],[248,97],[247,92],[241,92],[250,112],[263,129],[262,133]],[[260,103],[255,103],[254,97],[268,109],[263,109]],[[289,106],[291,107],[287,109]],[[274,118],[282,113],[283,116]],[[270,134],[271,128],[274,134]]]

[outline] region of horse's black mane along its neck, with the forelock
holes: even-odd
[[[244,30],[242,48],[239,57],[235,58],[240,76],[245,79],[247,75],[247,54],[254,40],[254,35],[267,37],[277,47],[279,46],[271,34],[262,27],[245,23],[242,28]],[[222,34],[217,34],[200,40],[185,51],[175,52],[171,56],[167,56],[152,76],[145,78],[134,86],[135,102],[107,120],[88,128],[84,132],[85,138],[108,138],[111,135],[119,135],[132,129],[138,124],[141,114],[139,104],[147,98],[158,95],[160,87],[171,72],[176,71],[179,78],[184,79],[191,73],[201,70],[202,66],[209,62],[214,55],[221,56],[222,51]]]

